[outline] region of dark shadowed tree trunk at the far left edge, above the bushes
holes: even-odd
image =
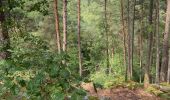
[[[5,9],[6,6],[5,0],[0,0],[0,44],[3,45],[2,49],[0,50],[0,60],[7,59],[9,57],[9,35],[8,29],[6,26],[6,19],[5,19]]]

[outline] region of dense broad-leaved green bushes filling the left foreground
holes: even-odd
[[[69,55],[50,52],[41,38],[31,34],[12,37],[11,44],[11,59],[0,63],[2,96],[10,92],[15,97],[56,100],[64,98],[70,90],[80,91],[71,88],[79,78],[70,71],[75,64],[70,62]],[[82,95],[73,93],[74,96]]]

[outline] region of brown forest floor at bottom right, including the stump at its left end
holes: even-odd
[[[111,89],[97,89],[96,92],[91,85],[86,86],[89,86],[85,87],[85,90],[88,91],[88,96],[93,97],[90,100],[162,100],[160,97],[147,93],[142,88],[130,90],[124,87],[115,87]]]

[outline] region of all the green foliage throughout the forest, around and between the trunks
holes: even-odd
[[[152,32],[154,34],[149,72],[152,76],[151,81],[154,82],[156,74],[156,44],[154,43],[156,41],[156,4],[153,7],[153,24],[150,25],[148,23],[150,1],[136,1],[133,81],[125,82],[127,65],[124,65],[124,46],[127,43],[124,45],[123,38],[126,39],[125,42],[128,42],[127,0],[123,2],[124,12],[120,10],[120,0],[107,0],[106,12],[104,12],[104,1],[81,1],[83,77],[80,77],[77,49],[77,0],[67,2],[67,52],[61,54],[57,53],[53,0],[3,0],[0,13],[5,12],[6,19],[3,24],[10,41],[1,42],[3,37],[0,34],[0,57],[6,50],[6,45],[9,45],[7,50],[9,57],[0,58],[0,99],[60,100],[69,97],[71,100],[79,100],[86,95],[85,91],[78,86],[82,80],[93,81],[104,88],[123,86],[135,89],[140,87],[141,84],[137,82],[140,81],[140,78],[143,82],[144,68],[148,64],[148,33]],[[62,3],[62,0],[58,0],[61,41],[63,37]],[[159,33],[163,33],[165,27],[165,8],[165,0],[160,0]],[[126,35],[122,31],[121,12],[124,13]],[[0,22],[0,33],[3,33],[1,32],[3,28]],[[106,42],[107,37],[108,43]],[[163,36],[158,37],[160,37],[161,44]],[[126,47],[128,48],[128,45]],[[106,74],[107,50],[110,74]],[[161,47],[160,51],[162,51]],[[126,53],[129,55],[128,51]],[[162,56],[162,52],[160,52],[160,56]],[[161,85],[167,84],[161,83]],[[147,91],[155,95],[167,96],[154,87],[149,87]]]

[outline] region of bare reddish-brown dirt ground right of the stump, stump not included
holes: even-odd
[[[161,100],[155,95],[146,93],[142,89],[129,90],[128,88],[101,89],[96,94],[99,98],[108,97],[109,100]]]

